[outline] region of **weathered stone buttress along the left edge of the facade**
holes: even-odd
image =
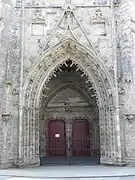
[[[1,1],[0,132],[1,166],[17,159],[18,95],[20,66],[20,12],[12,1]]]

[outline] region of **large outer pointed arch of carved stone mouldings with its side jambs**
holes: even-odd
[[[81,69],[93,83],[99,108],[101,163],[122,162],[120,123],[116,114],[115,83],[94,52],[73,39],[66,39],[47,50],[33,65],[23,87],[23,117],[20,122],[19,157],[25,165],[40,164],[39,109],[42,90],[67,59]],[[22,133],[23,132],[23,133]],[[25,133],[25,136],[24,136]],[[108,138],[109,137],[109,138]]]

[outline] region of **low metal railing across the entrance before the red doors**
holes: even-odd
[[[46,156],[42,164],[84,164],[92,161],[98,164],[99,142],[90,137],[47,138]]]

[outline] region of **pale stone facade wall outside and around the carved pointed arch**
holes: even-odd
[[[115,87],[111,91],[116,96],[119,92],[116,108],[120,108],[117,115],[121,121],[123,157],[127,163],[135,158],[135,3],[114,2],[115,8],[109,0],[0,1],[1,167],[17,163],[19,123],[23,122],[24,108],[22,89],[32,66],[44,52],[67,37],[94,51],[109,72]],[[73,11],[68,13],[69,19],[65,13],[67,4],[69,12]],[[72,31],[67,31],[67,24]],[[95,75],[97,79],[100,73]],[[22,123],[20,129],[23,126]]]

